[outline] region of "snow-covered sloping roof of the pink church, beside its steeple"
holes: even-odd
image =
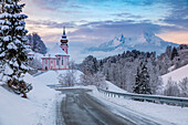
[[[45,56],[43,58],[56,58],[55,55],[65,55],[65,56],[69,56],[69,54],[66,54],[62,49],[61,46],[56,43],[52,50],[50,50]]]

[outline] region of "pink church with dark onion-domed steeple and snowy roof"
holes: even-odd
[[[66,39],[65,28],[60,40],[61,45],[56,43],[51,51],[42,56],[42,71],[48,70],[69,70],[69,40]]]

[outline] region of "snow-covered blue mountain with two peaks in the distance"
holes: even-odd
[[[178,44],[167,42],[152,32],[145,32],[142,35],[134,38],[126,38],[124,34],[121,34],[98,46],[88,48],[86,51],[123,52],[127,50],[139,50],[144,52],[156,51],[157,54],[160,54],[168,45],[177,46]]]

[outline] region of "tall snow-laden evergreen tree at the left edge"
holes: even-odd
[[[1,0],[0,13],[0,64],[4,67],[7,84],[15,93],[27,97],[32,86],[23,81],[28,69],[28,31],[24,29],[28,17],[20,14],[24,4],[20,0]]]

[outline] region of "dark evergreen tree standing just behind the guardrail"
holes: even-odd
[[[138,94],[152,94],[147,67],[142,63],[140,69],[142,70],[139,70],[139,67],[137,69],[136,82],[133,92]]]

